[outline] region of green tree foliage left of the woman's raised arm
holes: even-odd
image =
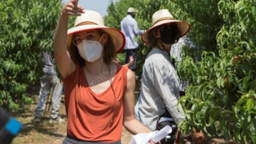
[[[43,74],[43,50],[52,51],[60,0],[0,0],[0,106],[31,104],[26,86]]]

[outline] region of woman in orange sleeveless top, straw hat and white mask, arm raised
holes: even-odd
[[[111,63],[125,45],[124,35],[77,3],[71,0],[62,8],[53,43],[65,86],[63,144],[120,144],[122,125],[132,134],[150,132],[134,117],[133,72]],[[77,18],[67,30],[69,16]]]

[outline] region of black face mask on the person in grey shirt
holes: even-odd
[[[166,43],[166,44],[171,44],[173,43],[173,33],[170,29],[170,27],[163,27],[163,29],[160,29],[160,40],[163,42],[163,43]]]

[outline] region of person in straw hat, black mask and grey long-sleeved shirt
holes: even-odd
[[[158,117],[163,114],[170,114],[176,125],[185,120],[180,104],[177,109],[179,81],[169,54],[171,45],[186,35],[189,29],[187,22],[175,20],[168,10],[163,9],[153,14],[152,27],[141,36],[141,40],[153,46],[153,49],[143,66],[135,116],[152,131],[157,129]],[[173,144],[175,136],[170,138],[170,142],[165,140]],[[201,144],[202,140],[197,143]]]

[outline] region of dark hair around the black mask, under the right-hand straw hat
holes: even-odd
[[[154,32],[157,31],[158,29],[163,30],[163,27],[165,27],[165,26],[166,26],[166,24],[163,24],[163,25],[155,27],[154,29],[149,30],[149,32],[147,33],[149,45],[155,46],[157,44],[157,38],[154,36]],[[179,31],[178,26],[175,22],[170,23],[169,27],[172,32],[172,37],[171,37],[172,40],[171,41],[172,41],[172,44],[174,44],[174,43],[178,42],[179,38],[181,37],[181,32]]]

